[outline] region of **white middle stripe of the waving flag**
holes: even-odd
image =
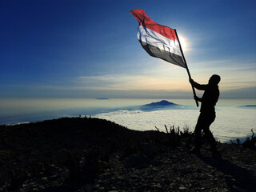
[[[170,40],[170,38],[166,38],[165,36],[162,36],[162,34],[158,34],[154,30],[150,30],[143,26],[138,26],[137,37],[142,42],[146,42],[151,46],[157,46],[161,50],[165,50],[182,57],[181,49],[177,40]]]

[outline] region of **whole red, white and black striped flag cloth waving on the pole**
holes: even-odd
[[[186,68],[175,30],[154,22],[142,9],[131,10],[130,14],[138,20],[138,41],[148,54]]]

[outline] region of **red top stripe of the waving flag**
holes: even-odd
[[[131,10],[130,14],[134,15],[134,18],[137,18],[140,26],[145,26],[150,30],[154,30],[158,34],[162,34],[166,38],[171,40],[177,40],[175,31],[168,26],[159,25],[157,22],[154,22],[149,16],[146,15],[145,11],[142,9]]]

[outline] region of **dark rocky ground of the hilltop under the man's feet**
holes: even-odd
[[[167,127],[166,127],[167,128]],[[0,191],[256,191],[256,151],[96,118],[0,126]]]

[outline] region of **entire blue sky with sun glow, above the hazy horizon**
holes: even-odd
[[[249,0],[0,0],[0,98],[193,97],[186,69],[142,49],[138,8],[184,39],[194,81],[219,74],[220,98],[256,98]]]

